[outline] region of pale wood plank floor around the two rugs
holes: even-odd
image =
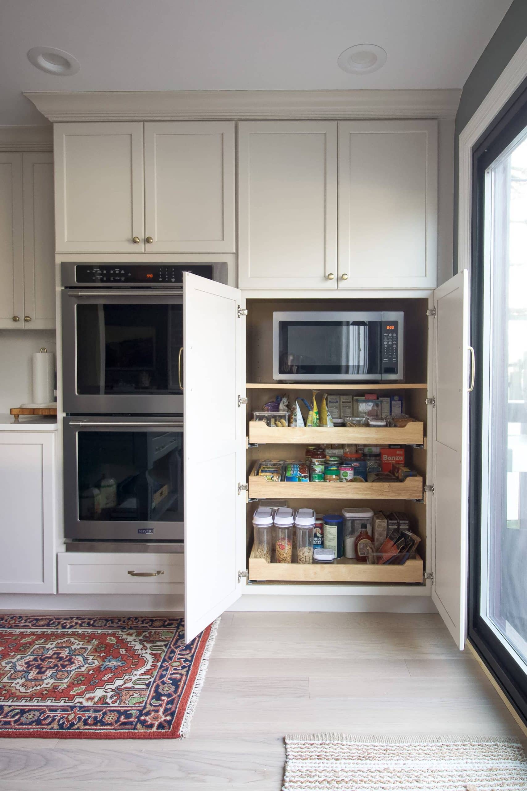
[[[187,739],[0,739],[0,789],[279,791],[284,735],[321,731],[521,739],[439,615],[228,613]]]

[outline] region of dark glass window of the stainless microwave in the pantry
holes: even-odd
[[[378,376],[381,327],[378,321],[280,321],[279,373]]]

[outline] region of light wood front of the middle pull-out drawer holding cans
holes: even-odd
[[[271,429],[273,430],[273,429]],[[275,429],[276,430],[276,429]],[[314,498],[318,500],[420,500],[423,498],[423,479],[417,475],[402,483],[288,483],[267,481],[256,475],[255,464],[249,475],[249,497]],[[280,564],[278,564],[280,565]]]

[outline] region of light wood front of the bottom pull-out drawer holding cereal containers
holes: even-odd
[[[249,579],[261,582],[360,582],[363,585],[375,582],[422,584],[423,561],[416,557],[407,560],[403,566],[392,566],[390,563],[368,566],[367,563],[357,563],[349,558],[339,558],[327,564],[267,563],[262,558],[254,557],[253,547],[249,558]]]

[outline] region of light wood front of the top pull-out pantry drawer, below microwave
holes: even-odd
[[[325,442],[349,442],[364,445],[423,445],[424,425],[420,422],[408,423],[404,428],[345,428],[334,426],[329,429],[319,426],[316,429],[279,428],[266,426],[263,421],[251,420],[249,441],[258,445],[318,445]],[[355,484],[354,484],[355,485]]]

